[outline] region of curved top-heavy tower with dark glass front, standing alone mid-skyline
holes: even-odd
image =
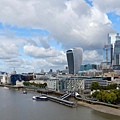
[[[69,74],[76,74],[80,70],[83,59],[83,49],[73,48],[66,52]]]

